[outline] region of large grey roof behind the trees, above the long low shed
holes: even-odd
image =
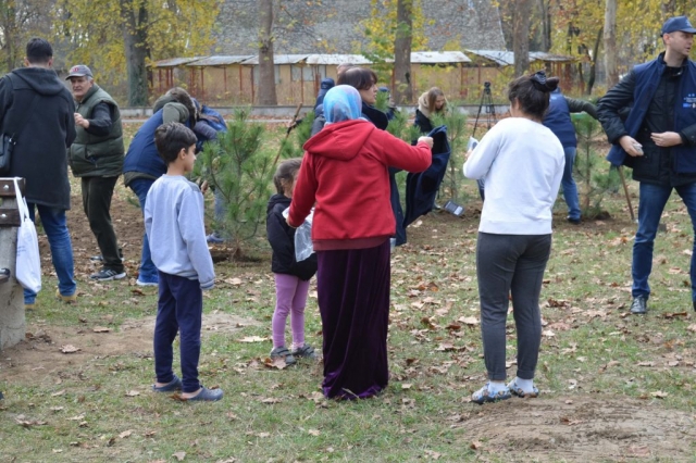
[[[275,53],[359,53],[365,43],[360,21],[370,16],[370,0],[286,1],[290,21],[277,13]],[[490,0],[424,0],[428,50],[504,50],[498,9]],[[431,24],[432,23],[432,24]],[[217,17],[213,54],[258,53],[258,2],[225,0]],[[418,51],[418,50],[415,50]]]

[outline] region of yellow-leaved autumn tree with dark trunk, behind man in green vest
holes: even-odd
[[[58,0],[57,23],[70,60],[117,84],[128,105],[146,105],[149,60],[207,53],[221,0]],[[107,73],[109,73],[107,75]]]

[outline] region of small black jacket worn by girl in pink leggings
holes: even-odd
[[[266,207],[265,232],[269,243],[273,249],[271,271],[294,275],[307,281],[316,273],[316,254],[297,262],[295,259],[295,228],[290,227],[283,211],[290,205],[290,198],[285,195],[273,195]]]

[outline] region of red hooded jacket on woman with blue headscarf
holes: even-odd
[[[422,172],[431,165],[425,142],[412,147],[363,120],[330,124],[304,143],[288,223],[299,226],[314,209],[318,251],[364,249],[394,235],[388,166]]]

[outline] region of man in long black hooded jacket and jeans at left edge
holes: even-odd
[[[77,285],[65,211],[70,209],[66,148],[75,139],[75,104],[52,68],[48,41],[30,39],[24,64],[0,79],[0,128],[17,140],[9,176],[26,178],[29,215],[34,220],[36,209],[41,216],[58,275],[58,297],[74,302]],[[35,302],[36,292],[25,290],[25,306]]]

